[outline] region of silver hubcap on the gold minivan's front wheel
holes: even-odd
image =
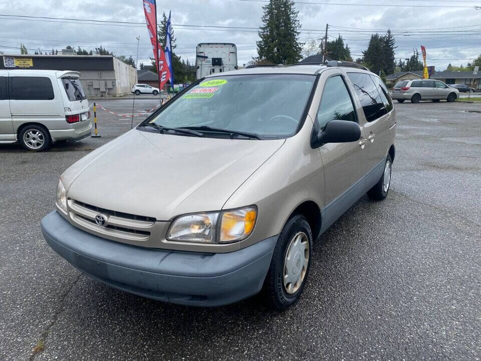
[[[284,258],[283,283],[287,293],[295,293],[306,276],[309,263],[309,239],[304,232],[294,235]]]

